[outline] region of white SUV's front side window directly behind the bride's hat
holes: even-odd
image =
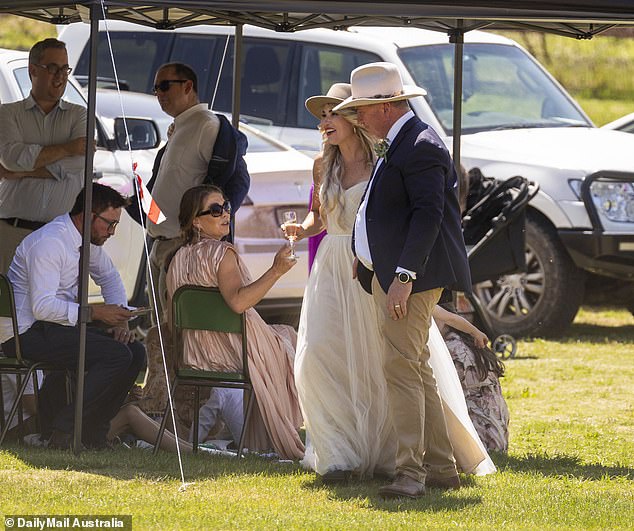
[[[334,83],[348,83],[350,72],[357,66],[380,60],[376,54],[352,48],[304,44],[299,70],[296,127],[315,127],[317,124],[315,117],[304,106],[307,98],[326,94]]]

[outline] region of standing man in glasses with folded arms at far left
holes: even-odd
[[[66,45],[36,43],[31,93],[0,105],[0,272],[31,231],[68,212],[81,190],[86,109],[62,99],[71,68]]]

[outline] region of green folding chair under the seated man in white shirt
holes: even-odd
[[[62,369],[60,367],[56,367],[51,365],[50,363],[45,362],[31,362],[29,360],[24,359],[22,356],[22,346],[20,344],[20,336],[18,334],[18,320],[17,314],[15,310],[15,298],[13,296],[13,286],[11,286],[11,282],[8,277],[2,273],[0,273],[0,318],[11,319],[11,324],[13,327],[13,336],[15,337],[15,358],[9,357],[0,357],[0,375],[1,374],[9,374],[15,375],[17,378],[17,389],[18,393],[13,401],[13,405],[11,406],[11,411],[9,412],[8,417],[4,418],[4,403],[2,402],[2,383],[0,380],[0,406],[2,406],[2,413],[0,414],[0,427],[2,429],[2,434],[0,435],[0,446],[4,442],[4,438],[9,431],[9,426],[11,426],[11,421],[15,417],[16,412],[19,411],[18,414],[18,426],[22,429],[22,408],[21,402],[24,396],[24,392],[26,391],[29,379],[33,378],[33,390],[35,392],[35,397],[37,401],[38,396],[38,382],[37,382],[37,370],[46,370],[46,371],[64,371],[68,375],[68,371],[66,369]],[[6,353],[4,353],[6,356]]]

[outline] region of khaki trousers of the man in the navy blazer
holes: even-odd
[[[372,280],[372,296],[387,340],[383,371],[396,431],[396,472],[420,482],[428,468],[439,477],[457,473],[427,347],[431,313],[441,292],[438,288],[411,295],[407,317],[393,321],[376,275]]]

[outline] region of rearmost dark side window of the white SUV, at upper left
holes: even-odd
[[[119,80],[125,82],[129,90],[151,94],[156,70],[168,62],[174,34],[115,31],[110,34],[110,40]],[[82,79],[87,79],[88,76],[88,53],[89,46],[86,45],[75,66],[75,75]],[[97,76],[102,78],[102,82],[115,79],[110,48],[104,32],[99,32]]]

